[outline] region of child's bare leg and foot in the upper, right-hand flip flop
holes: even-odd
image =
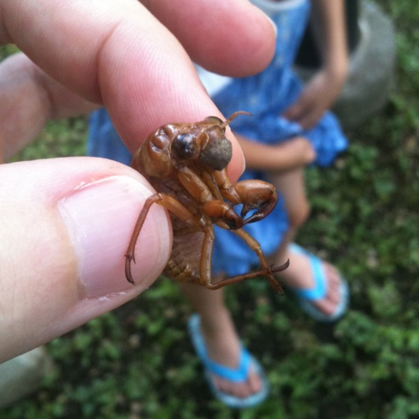
[[[312,288],[314,278],[309,259],[305,255],[292,253],[288,250],[289,244],[296,236],[297,229],[305,223],[309,216],[303,169],[272,174],[270,181],[283,194],[285,210],[290,222],[290,229],[285,233],[284,240],[275,255],[275,262],[290,259],[290,267],[281,272],[281,279],[292,288]],[[340,276],[330,264],[323,262],[323,268],[328,281],[327,295],[323,299],[314,301],[313,304],[325,314],[332,314],[340,299]]]

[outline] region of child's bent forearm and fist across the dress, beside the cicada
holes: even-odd
[[[236,132],[234,134],[242,147],[246,168],[249,169],[283,172],[303,168],[316,157],[312,144],[303,137],[268,145],[251,141]]]

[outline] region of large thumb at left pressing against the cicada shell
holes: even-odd
[[[0,362],[29,351],[140,294],[171,249],[153,205],[125,279],[125,251],[149,183],[127,166],[90,157],[0,166]]]

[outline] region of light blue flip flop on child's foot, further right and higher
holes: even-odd
[[[346,309],[348,308],[348,283],[344,278],[342,278],[342,276],[340,277],[340,301],[336,306],[335,311],[330,315],[321,312],[312,304],[312,301],[322,299],[327,294],[327,280],[325,276],[325,270],[322,268],[322,261],[309,251],[303,249],[298,244],[290,244],[289,249],[293,253],[306,255],[309,258],[310,264],[312,266],[314,288],[292,288],[292,292],[294,292],[301,309],[303,309],[303,311],[305,311],[309,316],[314,318],[314,320],[318,320],[320,322],[334,322],[335,320],[338,320],[338,318],[344,315]]]

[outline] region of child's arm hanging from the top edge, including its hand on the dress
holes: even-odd
[[[322,68],[305,86],[284,116],[310,128],[340,93],[348,69],[343,0],[312,0],[312,27],[322,58]]]

